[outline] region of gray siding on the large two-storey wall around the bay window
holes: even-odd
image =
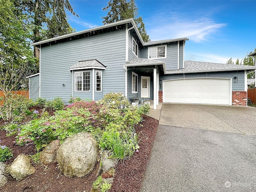
[[[102,73],[102,94],[124,93],[125,72],[122,66],[125,63],[125,29],[122,29],[42,47],[41,97],[50,100],[61,96],[64,102],[68,102],[72,89],[74,92],[69,68],[78,61],[90,59],[97,59],[107,66]],[[62,86],[62,83],[66,86]],[[78,92],[73,95],[92,99],[92,91],[91,97]],[[101,97],[97,94],[97,98]]]

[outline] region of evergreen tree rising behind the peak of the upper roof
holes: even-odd
[[[104,7],[103,10],[108,11],[107,16],[102,17],[102,19],[104,19],[102,22],[103,24],[133,18],[143,41],[150,41],[145,29],[145,24],[142,21],[142,17],[138,17],[138,8],[134,0],[110,0],[108,2],[108,6]]]

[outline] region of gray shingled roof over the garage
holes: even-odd
[[[209,62],[198,62],[198,61],[185,61],[184,69],[168,70],[166,71],[166,74],[238,71],[238,70],[255,70],[255,69],[256,69],[256,66],[248,66],[248,65],[232,65],[232,64],[209,63]]]

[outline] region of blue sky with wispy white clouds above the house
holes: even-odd
[[[70,0],[76,31],[102,25],[109,0]],[[226,63],[256,48],[256,1],[135,0],[152,41],[188,37],[185,60]]]

